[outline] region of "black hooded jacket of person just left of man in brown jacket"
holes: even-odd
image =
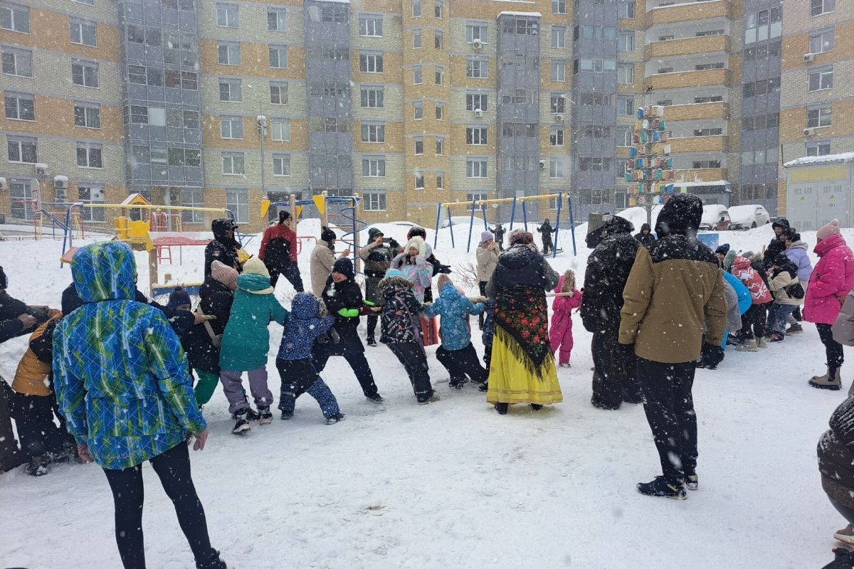
[[[623,287],[635,264],[640,243],[632,237],[635,227],[619,216],[605,218],[602,241],[588,257],[582,294],[582,324],[588,332],[614,332],[620,327]]]

